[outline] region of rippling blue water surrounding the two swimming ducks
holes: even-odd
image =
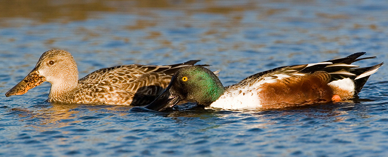
[[[5,97],[52,48],[80,76],[121,64],[201,59],[225,86],[278,66],[365,51],[387,61],[388,2],[256,0],[4,1],[0,6],[0,156],[313,156],[388,153],[384,65],[359,99],[269,111],[189,103],[162,113],[45,102],[49,83]]]

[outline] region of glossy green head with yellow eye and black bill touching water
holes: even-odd
[[[184,67],[173,75],[164,92],[146,108],[162,111],[182,100],[207,106],[217,100],[224,91],[221,81],[209,69],[202,66]]]

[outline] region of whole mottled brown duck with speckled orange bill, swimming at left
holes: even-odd
[[[43,53],[35,68],[5,95],[22,95],[47,81],[51,83],[49,102],[144,105],[163,92],[178,69],[198,61],[166,66],[121,65],[94,71],[78,80],[73,56],[54,49]]]

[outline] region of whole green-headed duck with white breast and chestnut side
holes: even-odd
[[[170,85],[147,109],[162,111],[178,101],[223,109],[269,109],[354,98],[369,76],[383,64],[357,68],[353,62],[365,52],[320,63],[279,67],[251,75],[224,87],[201,66],[179,69]]]

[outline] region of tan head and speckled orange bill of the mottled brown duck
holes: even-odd
[[[5,95],[22,95],[45,81],[51,83],[50,96],[77,86],[77,64],[69,52],[53,49],[43,53],[35,68]]]

